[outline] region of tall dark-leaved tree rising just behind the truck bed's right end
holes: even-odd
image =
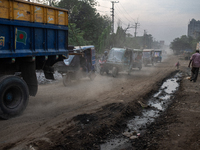
[[[58,3],[58,7],[69,10],[69,23],[76,24],[76,28],[83,33],[79,36],[82,35],[87,44],[97,46],[98,39],[110,25],[110,20],[106,16],[100,16],[93,8],[94,5],[95,0],[61,0]]]

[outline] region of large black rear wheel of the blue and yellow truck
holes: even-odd
[[[29,100],[29,90],[26,82],[17,76],[3,76],[0,78],[0,108],[3,119],[20,115]]]

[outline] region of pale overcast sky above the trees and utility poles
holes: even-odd
[[[96,0],[101,15],[111,17],[111,0]],[[123,28],[139,23],[137,36],[144,30],[155,41],[169,45],[175,38],[187,35],[189,21],[200,20],[200,0],[118,0],[114,4],[115,31],[120,23]],[[120,20],[120,21],[119,21]],[[135,29],[128,33],[134,35]]]

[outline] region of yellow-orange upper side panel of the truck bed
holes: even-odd
[[[68,25],[66,10],[20,0],[1,0],[0,18]]]

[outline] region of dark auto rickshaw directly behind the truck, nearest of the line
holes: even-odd
[[[56,70],[62,74],[63,84],[68,86],[71,80],[78,80],[82,77],[95,78],[95,47],[80,46],[74,47],[69,52],[69,57],[63,62],[56,64]]]

